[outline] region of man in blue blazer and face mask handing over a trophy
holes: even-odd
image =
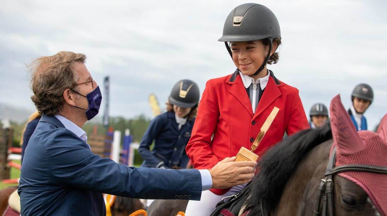
[[[245,184],[256,162],[226,158],[211,170],[134,168],[94,155],[81,129],[98,114],[101,92],[86,56],[60,52],[31,65],[31,88],[43,114],[29,140],[19,195],[24,215],[105,215],[101,193],[144,199],[194,199],[210,188]]]

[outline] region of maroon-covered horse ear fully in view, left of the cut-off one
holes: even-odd
[[[338,153],[351,155],[365,148],[365,143],[341,103],[340,95],[336,95],[330,102],[330,126]]]

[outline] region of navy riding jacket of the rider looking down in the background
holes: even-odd
[[[195,118],[188,120],[179,130],[174,112],[165,112],[156,116],[142,137],[139,153],[144,159],[142,167],[156,167],[164,162],[167,168],[187,167],[189,158],[185,146],[191,138]],[[154,147],[150,146],[154,141]]]

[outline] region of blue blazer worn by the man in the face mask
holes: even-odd
[[[43,115],[21,167],[21,214],[105,215],[102,193],[143,199],[199,200],[198,170],[135,168],[94,155],[54,116]]]

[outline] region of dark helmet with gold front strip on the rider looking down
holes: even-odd
[[[173,86],[169,101],[183,108],[195,107],[199,103],[199,94],[199,87],[194,81],[180,80]]]

